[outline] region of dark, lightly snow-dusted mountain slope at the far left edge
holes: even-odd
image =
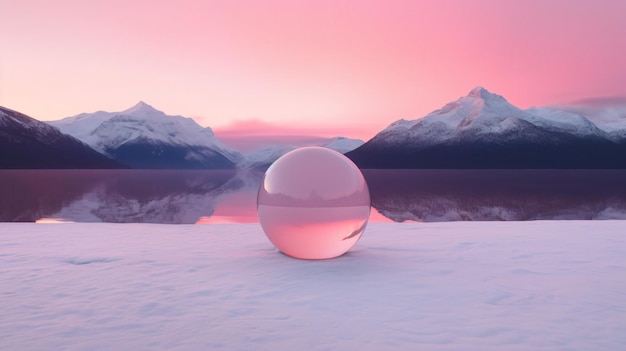
[[[0,107],[0,168],[120,168],[81,141]]]

